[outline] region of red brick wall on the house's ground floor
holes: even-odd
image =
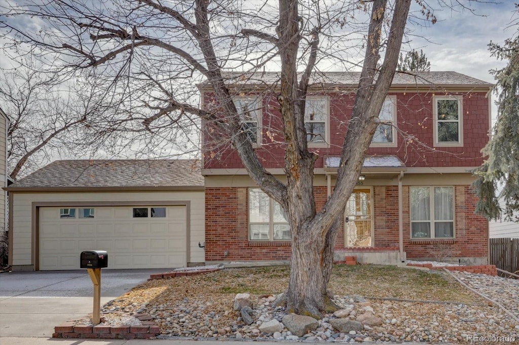
[[[486,257],[487,221],[474,214],[476,197],[469,185],[455,186],[456,239],[411,240],[409,221],[409,187],[403,186],[404,251],[407,258],[431,257],[428,250],[451,249],[456,257]],[[327,199],[324,186],[314,188],[316,206],[320,210]],[[375,247],[398,247],[398,186],[375,186]],[[249,241],[247,188],[206,188],[206,261],[288,260],[290,242]],[[344,228],[335,242],[336,250],[344,250]],[[224,252],[228,251],[228,256]]]

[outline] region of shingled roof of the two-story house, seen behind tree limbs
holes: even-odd
[[[310,85],[322,86],[354,86],[359,83],[360,72],[322,72],[314,73],[310,77]],[[234,85],[264,85],[277,84],[280,78],[279,72],[227,72],[224,78],[229,84]],[[472,78],[454,71],[420,71],[420,72],[397,72],[394,75],[391,87],[480,87],[490,88],[493,84]],[[199,84],[199,88],[210,87],[207,81]]]

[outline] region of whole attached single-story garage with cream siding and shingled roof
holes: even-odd
[[[73,181],[48,185],[49,175]],[[203,178],[193,161],[57,161],[8,190],[13,270],[79,269],[79,253],[92,249],[106,250],[116,269],[204,262]]]

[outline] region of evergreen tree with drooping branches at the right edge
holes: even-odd
[[[490,42],[489,50],[497,59],[508,60],[508,65],[493,70],[498,118],[484,149],[487,160],[474,172],[477,180],[473,187],[480,198],[476,213],[488,219],[498,219],[504,213],[506,220],[519,222],[517,213],[514,215],[519,211],[519,34],[502,46]],[[496,195],[500,185],[502,191]],[[499,206],[499,197],[504,199],[504,209]]]

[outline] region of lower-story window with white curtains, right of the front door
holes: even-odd
[[[411,238],[454,238],[454,187],[411,187]]]

